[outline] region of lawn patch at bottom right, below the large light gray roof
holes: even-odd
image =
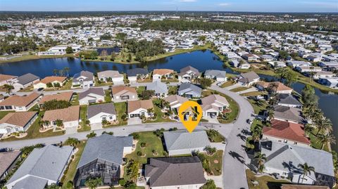
[[[282,184],[289,183],[288,181],[277,181],[270,176],[256,177],[249,169],[246,169],[246,179],[248,181],[249,189],[280,189]],[[258,185],[254,186],[251,181],[258,181]]]

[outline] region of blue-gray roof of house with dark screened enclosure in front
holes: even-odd
[[[122,164],[123,148],[125,147],[132,147],[132,136],[119,137],[103,134],[90,138],[84,148],[80,162],[77,164],[77,169],[95,159]]]

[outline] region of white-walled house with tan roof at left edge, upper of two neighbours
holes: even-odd
[[[13,95],[0,102],[0,111],[25,112],[39,102],[39,93],[30,93],[27,96]]]

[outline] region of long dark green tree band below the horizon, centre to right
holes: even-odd
[[[202,22],[202,21],[187,21],[187,20],[161,20],[148,21],[142,25],[142,30],[225,30],[246,31],[258,30],[265,32],[306,32],[305,27],[298,24],[290,23],[248,23],[248,22]]]

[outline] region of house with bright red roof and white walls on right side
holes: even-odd
[[[310,147],[311,141],[306,137],[304,126],[277,119],[271,121],[271,126],[263,126],[263,140],[279,141],[292,145]]]

